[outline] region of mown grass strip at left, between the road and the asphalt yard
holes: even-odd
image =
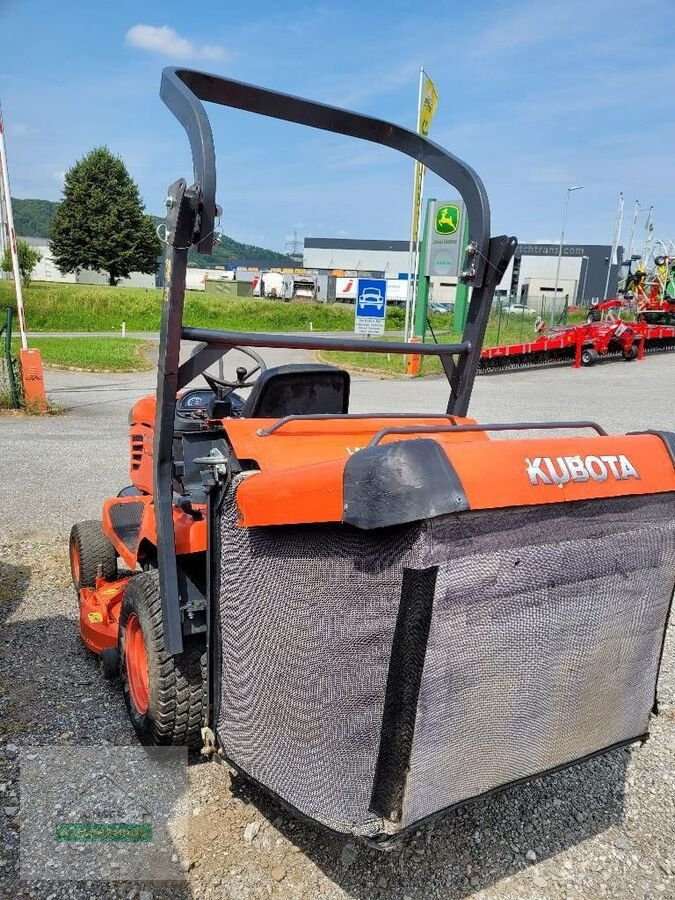
[[[14,343],[14,342],[12,342]],[[147,341],[134,338],[35,338],[30,341],[42,353],[46,366],[84,369],[86,372],[140,372],[151,369]],[[14,346],[18,354],[18,342]]]

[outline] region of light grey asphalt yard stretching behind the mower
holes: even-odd
[[[268,365],[311,359],[301,351],[263,355]],[[51,400],[65,408],[63,415],[0,418],[0,500],[8,536],[54,530],[65,535],[74,521],[100,515],[101,502],[129,483],[129,409],[154,391],[156,374],[48,369],[45,382]],[[447,396],[440,377],[352,376],[353,412],[444,412]],[[481,422],[593,419],[613,433],[673,431],[675,354],[589,369],[479,376],[469,412]]]

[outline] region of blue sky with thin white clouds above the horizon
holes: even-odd
[[[159,100],[187,65],[414,127],[424,65],[440,102],[431,137],[485,181],[493,233],[609,243],[619,191],[675,237],[672,0],[459,4],[0,0],[0,101],[12,191],[56,200],[94,146],[120,154],[148,211],[190,177]],[[210,107],[222,230],[283,249],[298,236],[406,238],[411,163],[392,151]],[[448,191],[428,180],[429,195]],[[644,221],[644,216],[640,220]]]

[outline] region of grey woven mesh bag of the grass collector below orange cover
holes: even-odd
[[[675,579],[672,494],[358,531],[239,528],[235,492],[220,523],[218,738],[305,815],[391,834],[647,732]],[[436,569],[420,631],[406,571]],[[406,621],[422,643],[401,643]],[[397,686],[420,652],[416,690]],[[387,737],[392,710],[405,740]]]

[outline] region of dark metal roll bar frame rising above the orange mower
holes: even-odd
[[[421,135],[390,122],[327,106],[289,94],[255,87],[192,69],[168,68],[162,73],[162,100],[187,132],[192,150],[194,184],[174,182],[166,199],[164,302],[157,368],[157,412],[154,443],[154,502],[157,522],[157,562],[164,640],[169,653],[183,648],[178,561],[173,527],[173,437],[176,392],[237,345],[313,350],[368,350],[438,356],[450,386],[448,416],[466,415],[494,290],[517,246],[513,237],[490,237],[490,206],[483,182],[470,166]],[[462,340],[455,344],[415,344],[314,336],[247,334],[183,326],[185,274],[190,247],[208,253],[214,243],[216,162],[213,134],[202,101],[258,115],[295,122],[371,141],[419,160],[461,195],[469,223],[460,279],[473,288]],[[180,364],[182,340],[202,341],[190,360]],[[207,567],[211,545],[207,549]]]

